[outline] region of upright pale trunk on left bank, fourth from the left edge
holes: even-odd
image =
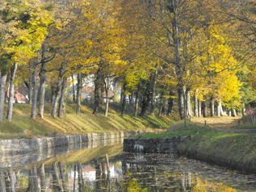
[[[46,63],[42,63],[40,67],[40,86],[39,86],[39,106],[38,106],[38,111],[37,115],[40,116],[40,118],[44,118],[44,99],[45,99],[45,84],[46,84]]]

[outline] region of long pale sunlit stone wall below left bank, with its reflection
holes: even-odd
[[[124,137],[139,133],[141,132],[108,132],[40,139],[0,140],[0,168],[24,166],[82,148],[123,144]]]

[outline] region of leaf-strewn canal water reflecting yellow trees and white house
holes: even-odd
[[[20,165],[15,161],[12,167],[0,169],[0,191],[256,191],[254,174],[175,154],[122,151],[119,141],[87,145],[87,148],[45,156],[40,161],[33,159],[26,164],[21,156]]]

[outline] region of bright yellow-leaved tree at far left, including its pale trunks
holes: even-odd
[[[1,93],[3,94],[5,89],[3,85],[6,83],[6,74],[10,73],[7,119],[11,120],[17,67],[26,65],[28,59],[36,56],[52,19],[48,13],[50,7],[39,1],[3,2],[2,5],[1,16],[4,29],[1,32],[1,56],[5,65],[2,66]],[[0,98],[2,103],[0,116],[2,116],[4,96]]]

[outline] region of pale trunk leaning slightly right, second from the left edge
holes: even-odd
[[[8,100],[8,111],[6,119],[11,121],[12,119],[12,111],[13,111],[13,103],[15,102],[15,75],[18,68],[18,63],[15,63],[12,66],[10,73],[10,86],[9,86],[9,100]]]

